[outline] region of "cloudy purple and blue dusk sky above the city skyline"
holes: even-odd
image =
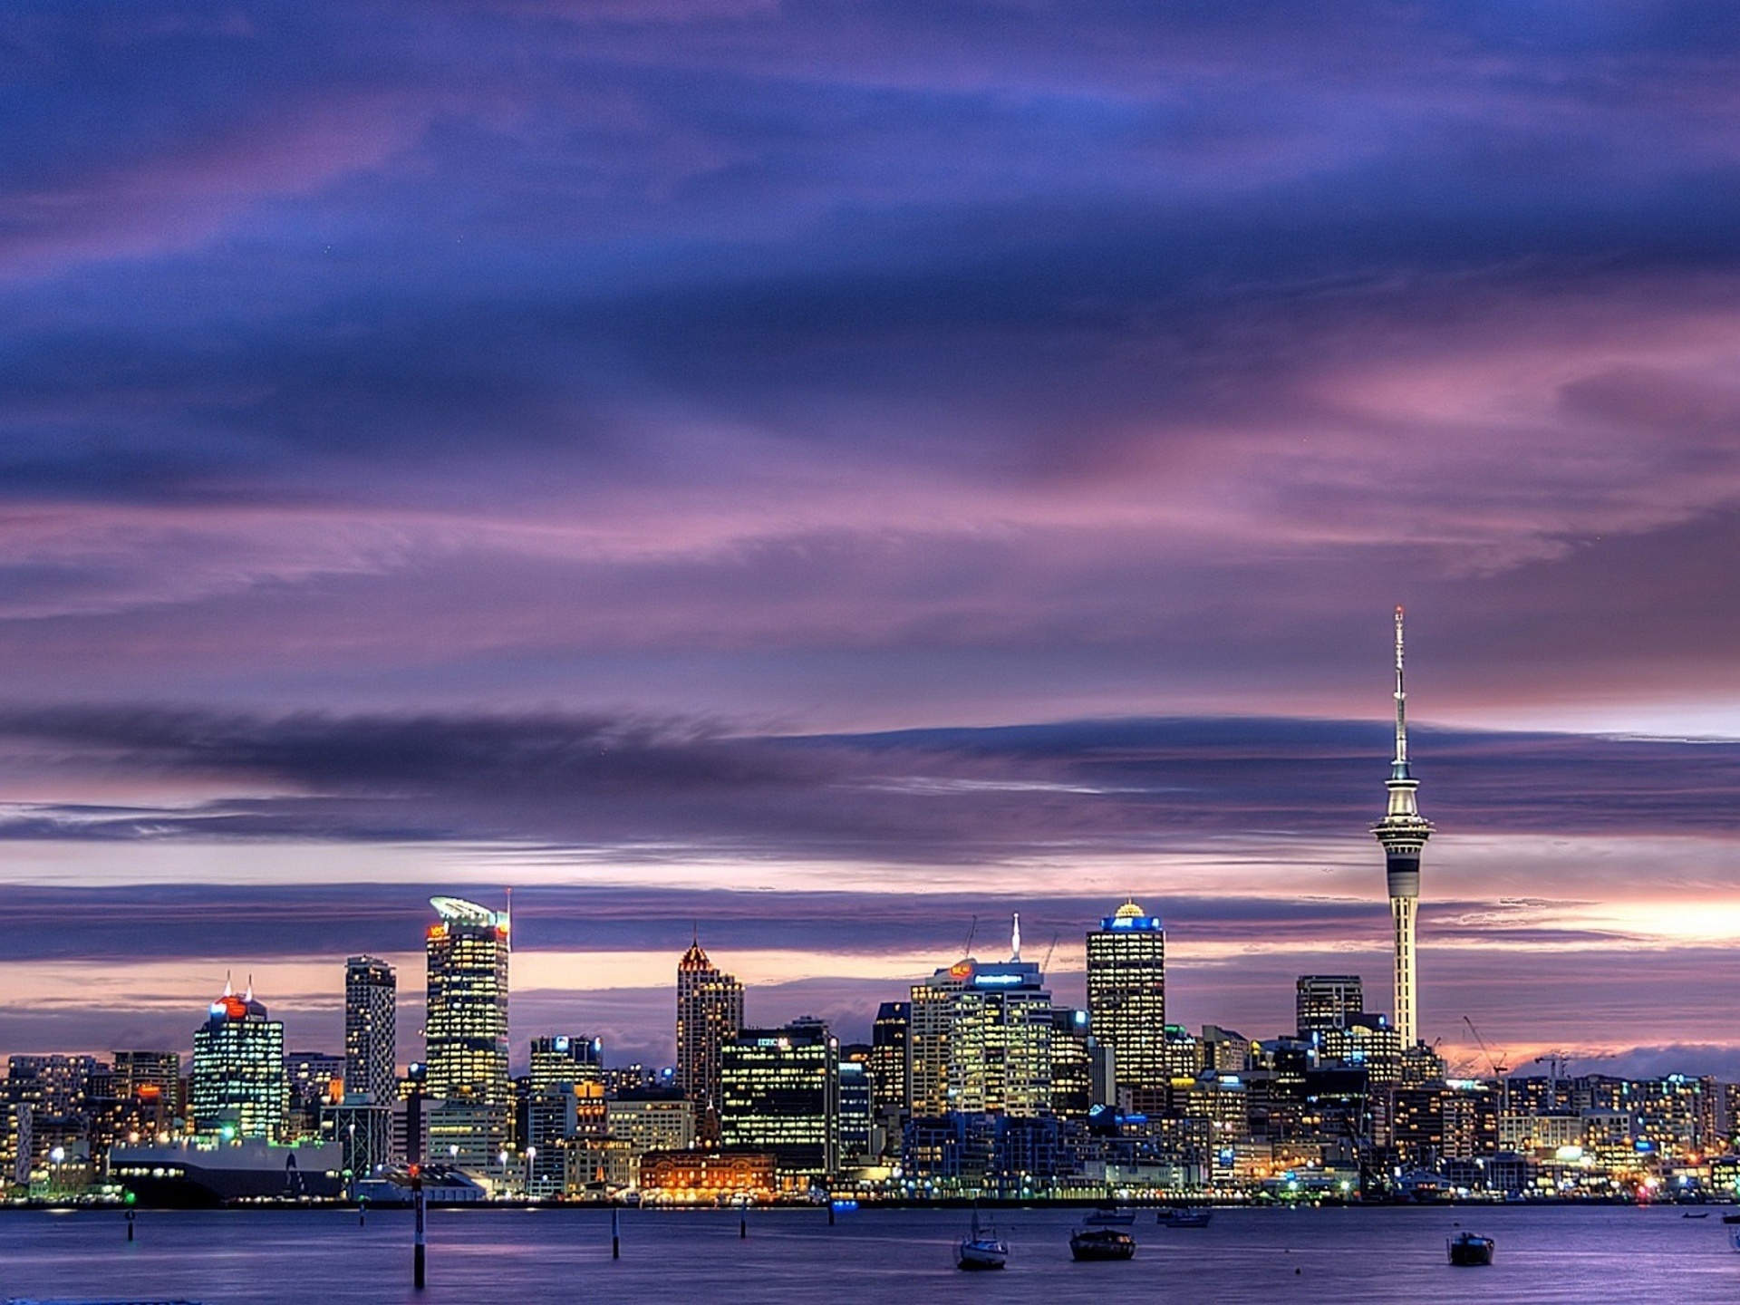
[[[0,12],[0,1054],[513,887],[513,1046],[1169,1016],[1740,1077],[1740,7]],[[1484,1070],[1484,1061],[1479,1061]]]

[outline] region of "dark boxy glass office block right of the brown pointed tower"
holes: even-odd
[[[719,1138],[767,1152],[781,1173],[839,1169],[840,1044],[820,1020],[745,1028],[720,1060]]]

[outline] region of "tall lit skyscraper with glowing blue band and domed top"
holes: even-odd
[[[1121,1086],[1166,1088],[1166,926],[1134,901],[1088,933],[1088,1014]]]

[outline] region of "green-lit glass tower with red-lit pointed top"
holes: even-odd
[[[193,1030],[193,1129],[224,1141],[277,1141],[289,1098],[284,1025],[254,999],[252,985],[238,997],[224,981]]]

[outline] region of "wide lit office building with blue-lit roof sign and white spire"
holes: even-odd
[[[912,988],[912,1114],[1042,1115],[1051,1098],[1051,994],[1039,966],[973,957]]]

